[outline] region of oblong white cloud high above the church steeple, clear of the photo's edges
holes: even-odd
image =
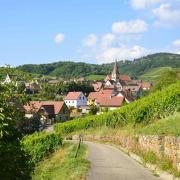
[[[147,31],[148,25],[145,21],[137,19],[133,21],[120,21],[112,25],[113,33],[134,34]]]

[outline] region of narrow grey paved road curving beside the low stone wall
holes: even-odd
[[[160,180],[152,172],[110,145],[85,142],[91,168],[87,180]]]

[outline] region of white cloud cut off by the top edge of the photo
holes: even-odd
[[[146,9],[160,2],[162,0],[130,0],[130,4],[134,9]]]

